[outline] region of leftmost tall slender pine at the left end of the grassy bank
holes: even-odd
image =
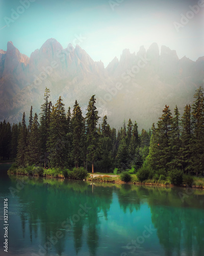
[[[19,134],[19,140],[18,140],[18,147],[17,147],[17,156],[16,156],[16,162],[19,166],[25,166],[25,153],[27,150],[27,126],[25,123],[25,112],[22,115],[22,122],[20,127],[20,134]]]

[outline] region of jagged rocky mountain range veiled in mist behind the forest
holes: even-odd
[[[177,104],[183,114],[204,82],[204,56],[196,61],[179,59],[166,46],[159,52],[156,43],[147,50],[140,47],[137,53],[125,49],[105,68],[78,45],[63,49],[50,38],[29,58],[10,41],[7,51],[0,50],[0,120],[18,122],[23,112],[28,118],[31,105],[39,114],[47,87],[53,104],[62,96],[66,111],[77,99],[85,114],[95,94],[99,116],[107,115],[111,126],[118,128],[131,118],[139,130],[149,129],[165,104],[172,114]]]

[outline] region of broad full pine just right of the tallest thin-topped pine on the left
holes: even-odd
[[[66,115],[61,96],[50,114],[47,148],[50,164],[53,167],[64,167],[66,161]]]

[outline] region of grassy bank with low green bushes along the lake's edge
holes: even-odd
[[[8,174],[30,175],[48,178],[67,178],[75,180],[88,180],[94,182],[112,182],[112,183],[129,183],[143,184],[151,186],[189,186],[204,188],[204,177],[195,177],[184,175],[180,170],[172,170],[165,174],[163,171],[152,173],[150,170],[141,168],[137,173],[131,169],[129,172],[118,172],[104,174],[88,174],[83,167],[70,169],[61,168],[43,168],[40,166],[28,166],[25,168],[18,167],[15,163],[8,170]]]

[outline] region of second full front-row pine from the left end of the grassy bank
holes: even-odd
[[[28,165],[38,164],[40,161],[40,138],[38,116],[35,113],[31,125],[31,133],[28,138],[27,151],[25,153],[25,163]]]

